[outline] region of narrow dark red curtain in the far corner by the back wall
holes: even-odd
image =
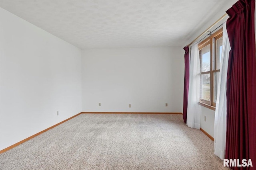
[[[185,50],[185,76],[184,76],[184,93],[183,93],[183,120],[187,123],[187,109],[188,109],[188,86],[189,86],[189,47],[183,48]]]

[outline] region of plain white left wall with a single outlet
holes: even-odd
[[[81,50],[0,12],[2,150],[81,112]]]

